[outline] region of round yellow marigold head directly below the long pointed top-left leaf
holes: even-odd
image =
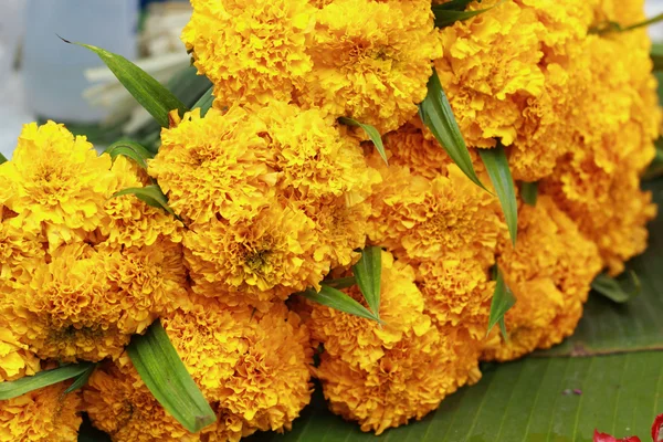
[[[175,212],[190,222],[255,215],[271,203],[276,179],[264,133],[266,127],[239,107],[225,114],[210,109],[204,118],[196,109],[161,131],[149,175]]]

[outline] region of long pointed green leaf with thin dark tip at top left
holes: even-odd
[[[97,54],[125,88],[152,117],[155,117],[161,127],[170,126],[170,120],[168,118],[168,113],[170,110],[178,109],[180,115],[189,110],[187,106],[185,106],[170,91],[164,87],[161,83],[152,78],[149,74],[124,56],[90,44],[71,42],[65,39],[62,40],[65,43],[86,48]]]

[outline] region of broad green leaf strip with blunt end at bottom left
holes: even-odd
[[[134,335],[127,352],[149,391],[183,428],[197,433],[217,420],[158,319],[145,335]]]

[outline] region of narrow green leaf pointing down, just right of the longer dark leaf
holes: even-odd
[[[499,198],[508,233],[515,246],[518,233],[518,203],[516,202],[516,189],[514,188],[514,179],[508,168],[504,146],[497,141],[496,147],[492,149],[478,149],[478,154],[491,177],[495,192],[497,192],[497,197]]]

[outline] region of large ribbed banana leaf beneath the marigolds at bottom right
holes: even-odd
[[[644,187],[663,203],[663,180]],[[590,296],[565,343],[514,362],[483,364],[477,385],[445,398],[423,420],[380,436],[364,433],[328,411],[318,386],[291,432],[256,433],[249,441],[591,442],[594,428],[651,440],[654,417],[663,411],[663,214],[649,228],[649,249],[628,264],[640,275],[640,296],[628,304]]]

